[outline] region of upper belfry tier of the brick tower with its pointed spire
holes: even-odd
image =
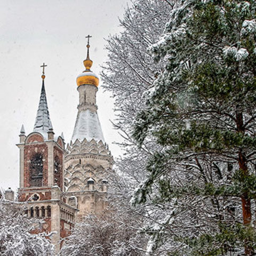
[[[44,86],[46,65],[42,67],[42,89],[34,130],[26,136],[22,125],[19,135],[20,189],[43,189],[56,184],[63,190],[65,143],[61,137],[54,138]]]

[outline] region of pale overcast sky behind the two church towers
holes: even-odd
[[[21,125],[33,131],[42,85],[53,129],[63,131],[66,142],[73,133],[78,104],[76,76],[84,70],[86,38],[90,39],[92,71],[100,73],[106,61],[104,38],[120,31],[127,0],[0,0],[0,188],[19,187]],[[101,83],[100,83],[101,84]],[[116,157],[120,138],[113,120],[113,99],[99,86],[98,114],[106,142]]]

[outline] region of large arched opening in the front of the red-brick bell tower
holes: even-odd
[[[43,155],[39,153],[30,158],[30,186],[43,186]]]

